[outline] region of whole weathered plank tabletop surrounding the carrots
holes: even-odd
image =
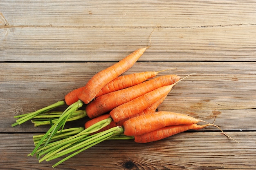
[[[149,45],[125,74],[184,77],[158,110],[220,126],[147,144],[105,141],[55,169],[255,169],[256,1],[0,1],[0,168],[52,169],[27,157],[49,126],[13,116],[60,101],[97,72]],[[66,107],[66,106],[65,106]],[[63,108],[61,108],[63,109]],[[82,127],[86,119],[67,124]]]

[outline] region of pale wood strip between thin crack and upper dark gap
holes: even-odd
[[[0,61],[117,61],[149,45],[153,27],[0,29]],[[158,28],[140,61],[255,61],[256,27]]]

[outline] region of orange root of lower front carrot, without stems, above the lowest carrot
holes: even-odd
[[[200,121],[185,114],[159,111],[128,119],[123,126],[125,135],[138,136],[166,126],[191,125]]]

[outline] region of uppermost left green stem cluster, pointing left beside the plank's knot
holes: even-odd
[[[16,125],[20,125],[26,121],[29,121],[30,119],[34,118],[34,116],[43,113],[43,112],[48,112],[49,110],[52,110],[58,106],[64,105],[65,102],[64,101],[58,101],[52,105],[49,105],[47,107],[44,107],[42,109],[36,110],[35,112],[31,112],[29,114],[26,114],[26,116],[22,116],[20,119],[16,120],[16,123],[11,124],[11,126],[16,126]]]

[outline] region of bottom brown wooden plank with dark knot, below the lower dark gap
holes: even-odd
[[[240,144],[227,139],[220,132],[185,132],[146,144],[138,144],[132,140],[105,141],[65,161],[56,169],[255,168],[256,132],[228,132],[228,134],[240,141]],[[36,157],[27,157],[34,147],[32,135],[34,134],[1,135],[1,168],[52,169],[51,166],[60,159],[38,163]]]

